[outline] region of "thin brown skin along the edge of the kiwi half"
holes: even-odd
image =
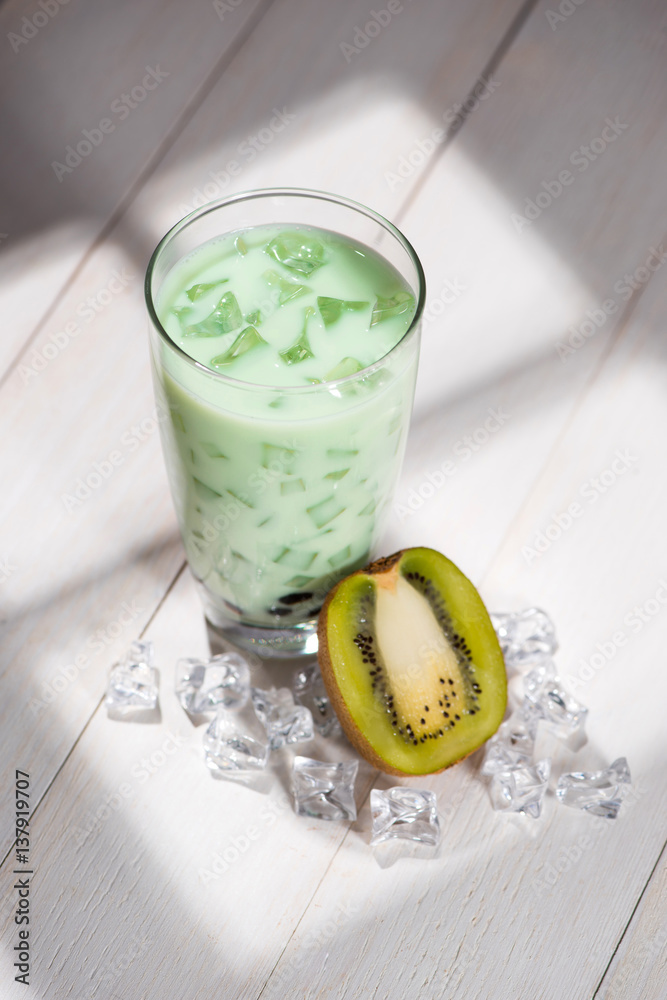
[[[375,748],[366,739],[363,732],[361,732],[359,727],[355,724],[355,721],[352,718],[352,715],[345,703],[345,700],[342,697],[341,691],[336,681],[336,675],[331,659],[331,651],[329,648],[328,609],[331,603],[335,600],[340,588],[345,584],[347,584],[348,581],[350,581],[355,577],[360,577],[360,576],[372,577],[375,575],[387,574],[392,570],[394,566],[400,563],[403,557],[410,551],[413,550],[401,549],[398,552],[394,552],[389,556],[384,556],[379,559],[376,559],[373,562],[369,563],[368,566],[357,570],[355,573],[352,573],[350,574],[350,576],[345,577],[343,580],[339,581],[336,584],[336,586],[333,587],[332,590],[330,590],[329,593],[327,594],[324,604],[322,605],[322,608],[320,610],[319,620],[318,620],[318,661],[319,661],[320,671],[322,673],[322,679],[324,681],[324,685],[327,690],[329,700],[334,708],[334,711],[336,712],[336,715],[338,716],[338,719],[340,721],[340,724],[343,728],[345,735],[347,736],[350,743],[354,746],[355,750],[357,750],[357,752],[365,760],[367,760],[370,764],[372,764],[373,767],[377,768],[377,770],[379,771],[384,772],[385,774],[396,775],[397,777],[406,777],[406,776],[414,777],[415,773],[394,767],[384,758],[379,756]],[[426,547],[423,548],[423,551],[434,552],[434,554],[438,556],[441,555],[440,553],[435,553],[435,550],[426,549]],[[472,586],[472,584],[470,584],[470,586]],[[498,725],[502,720],[504,709],[505,709],[505,704],[503,703],[502,711],[500,712],[499,715]],[[487,736],[486,738],[488,739],[491,735],[492,734],[489,733],[489,736]],[[434,767],[432,769],[424,770],[419,773],[440,774],[443,771],[446,771],[448,768],[452,767],[454,764],[460,763],[462,760],[465,760],[472,753],[475,753],[475,751],[479,749],[480,745],[482,744],[480,743],[476,746],[472,746],[467,753],[462,753],[460,756],[457,757],[456,760],[451,760],[443,767]]]

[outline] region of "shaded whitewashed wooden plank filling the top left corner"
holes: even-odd
[[[45,6],[0,9],[1,373],[267,3]]]

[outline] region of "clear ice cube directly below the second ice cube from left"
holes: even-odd
[[[248,705],[230,712],[218,707],[204,733],[204,753],[208,767],[220,774],[263,770],[269,743],[252,708]]]

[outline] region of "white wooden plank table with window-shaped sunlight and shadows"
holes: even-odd
[[[371,10],[393,13],[366,32]],[[6,0],[0,25],[0,995],[665,1000],[664,4]],[[477,753],[418,783],[437,793],[437,857],[389,863],[368,794],[393,779],[362,767],[358,821],[327,824],[293,813],[287,752],[261,787],[204,767],[172,694],[176,659],[210,637],[152,418],[142,276],[195,204],[280,185],[364,202],[418,249],[397,495],[415,509],[382,551],[431,545],[490,608],[550,612],[590,709],[583,749],[550,748],[554,775],[625,755],[615,822],[553,790],[538,821],[494,813]],[[102,705],[139,636],[155,725]]]

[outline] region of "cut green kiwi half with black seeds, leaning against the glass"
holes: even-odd
[[[405,549],[341,580],[318,634],[341,725],[381,771],[443,771],[502,722],[507,677],[491,620],[470,580],[434,549]]]

